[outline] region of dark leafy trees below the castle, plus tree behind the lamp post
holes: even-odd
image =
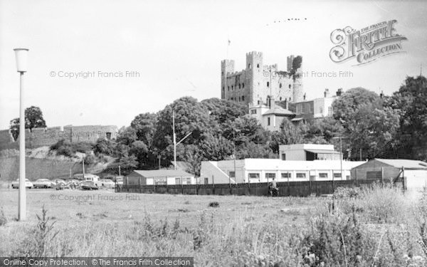
[[[176,160],[200,173],[203,160],[278,158],[279,145],[332,144],[345,159],[427,159],[427,87],[423,76],[407,77],[391,96],[364,88],[342,93],[332,104],[332,117],[293,124],[283,120],[270,132],[248,115],[248,107],[218,98],[198,101],[183,97],[157,113],[142,113],[116,140],[97,140],[95,155],[117,157],[122,170],[169,167],[174,160],[172,112],[175,117]],[[34,107],[33,107],[34,108]],[[40,112],[41,115],[41,112]],[[14,121],[14,120],[13,120]],[[43,117],[31,121],[43,121]],[[45,123],[46,125],[46,123]],[[16,121],[11,127],[16,129]],[[160,160],[159,160],[160,159]]]

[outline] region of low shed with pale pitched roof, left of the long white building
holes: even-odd
[[[177,169],[134,170],[124,177],[123,184],[196,184],[196,179],[194,178],[194,174]]]

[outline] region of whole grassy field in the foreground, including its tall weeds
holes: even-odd
[[[1,256],[191,256],[196,266],[424,266],[427,255],[423,200],[393,188],[336,199],[27,192],[28,220],[18,222],[18,190],[0,191],[7,221],[0,226],[6,240]],[[37,217],[43,206],[49,220]]]

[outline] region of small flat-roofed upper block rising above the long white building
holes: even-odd
[[[282,160],[339,160],[340,154],[334,150],[334,145],[279,145]]]

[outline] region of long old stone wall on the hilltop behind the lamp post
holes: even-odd
[[[25,130],[27,148],[51,146],[59,140],[68,142],[96,142],[99,138],[115,139],[118,128],[115,125],[83,125],[64,127],[38,127]],[[15,141],[10,130],[0,130],[0,150],[18,149],[19,137]]]

